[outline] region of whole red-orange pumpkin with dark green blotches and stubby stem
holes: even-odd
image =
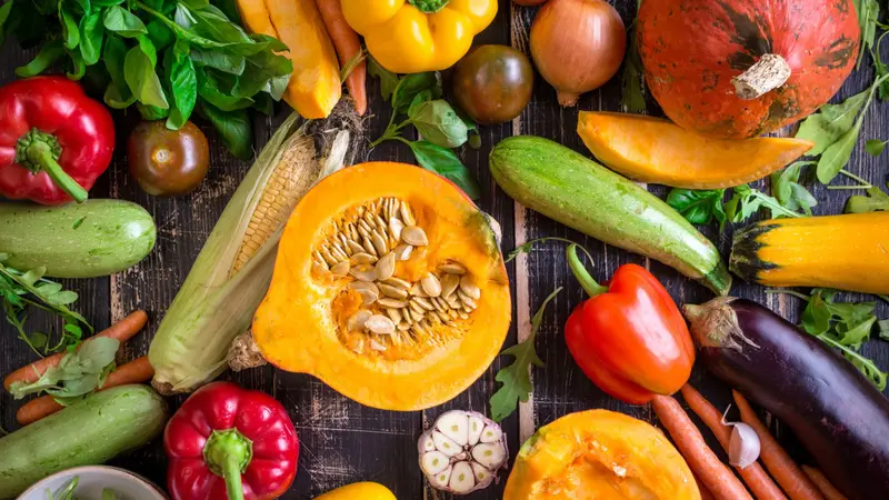
[[[646,81],[681,127],[756,137],[811,114],[852,71],[852,0],[648,0],[639,10]]]

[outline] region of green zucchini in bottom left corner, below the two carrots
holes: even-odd
[[[160,436],[167,403],[147,386],[120,386],[0,439],[0,499],[60,470],[104,463]]]

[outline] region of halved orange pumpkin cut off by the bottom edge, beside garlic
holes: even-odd
[[[700,500],[695,477],[651,424],[608,410],[570,413],[519,450],[503,500]]]

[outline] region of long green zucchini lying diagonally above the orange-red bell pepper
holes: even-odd
[[[677,269],[725,296],[731,274],[712,242],[659,198],[547,139],[501,141],[491,151],[498,184],[516,201],[608,244]]]

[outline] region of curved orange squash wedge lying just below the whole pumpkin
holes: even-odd
[[[709,139],[660,118],[592,111],[580,113],[577,131],[611,170],[686,189],[731,188],[762,179],[815,146],[791,138]]]

